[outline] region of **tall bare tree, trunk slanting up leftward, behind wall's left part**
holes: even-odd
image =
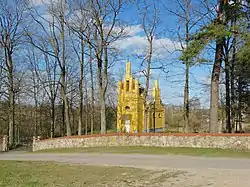
[[[51,20],[46,20],[44,17],[35,12],[33,19],[43,31],[42,36],[36,36],[35,33],[27,32],[27,36],[30,39],[32,45],[37,47],[43,53],[53,57],[60,67],[60,88],[61,96],[63,100],[63,119],[65,119],[67,136],[71,135],[70,126],[70,114],[69,114],[69,102],[67,97],[67,64],[66,64],[66,27],[65,16],[67,11],[67,4],[64,0],[50,1],[48,4],[48,14],[51,16]],[[49,27],[46,28],[46,25]],[[48,31],[49,30],[49,31]],[[35,39],[38,37],[40,40]],[[47,41],[52,48],[44,48],[44,41]],[[47,58],[47,57],[46,57]]]

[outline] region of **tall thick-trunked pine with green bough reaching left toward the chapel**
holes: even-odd
[[[219,97],[219,79],[221,74],[221,65],[223,61],[223,51],[225,37],[228,35],[226,30],[225,8],[227,0],[219,0],[217,7],[217,18],[208,25],[200,29],[194,37],[188,48],[183,51],[181,59],[197,56],[205,46],[215,40],[215,57],[211,75],[211,94],[210,94],[210,124],[211,133],[218,132],[218,97]]]

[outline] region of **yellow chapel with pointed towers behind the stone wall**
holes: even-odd
[[[131,63],[126,75],[118,82],[117,131],[127,133],[162,132],[165,128],[165,107],[160,98],[158,81],[153,87],[153,100],[144,108],[144,88],[131,75]],[[147,123],[144,123],[146,115]]]

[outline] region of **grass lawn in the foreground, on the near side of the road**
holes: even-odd
[[[0,161],[1,187],[159,186],[181,173],[136,168],[70,165],[54,162]],[[158,184],[157,184],[158,183]]]

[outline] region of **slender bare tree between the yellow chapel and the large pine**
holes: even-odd
[[[180,43],[181,51],[187,49],[190,45],[190,41],[194,31],[199,27],[199,23],[205,20],[207,14],[210,12],[208,10],[200,11],[201,4],[199,7],[192,0],[174,0],[174,4],[176,4],[177,10],[172,10],[168,8],[166,4],[167,11],[178,18],[178,28],[177,28],[177,37]],[[203,6],[203,4],[202,4]],[[189,106],[189,90],[190,90],[190,68],[192,65],[199,63],[199,59],[190,59],[188,56],[181,59],[182,63],[185,65],[185,86],[184,86],[184,131],[189,132],[190,128],[190,106]]]

